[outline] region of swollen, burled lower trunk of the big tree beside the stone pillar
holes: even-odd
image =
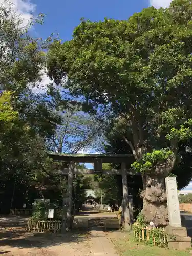
[[[165,172],[166,173],[166,172]],[[155,226],[168,225],[168,210],[165,177],[161,174],[143,174],[143,210],[145,221],[153,221]]]

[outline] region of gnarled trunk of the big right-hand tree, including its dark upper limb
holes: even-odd
[[[147,140],[144,140],[144,123],[141,121],[140,113],[136,104],[130,103],[131,129],[133,140],[130,141],[124,137],[127,144],[130,146],[136,161],[143,158],[147,152],[151,152],[152,148],[147,148]],[[130,116],[127,120],[130,120]],[[126,117],[124,117],[126,120]],[[170,141],[174,156],[171,159],[166,159],[165,162],[153,163],[152,169],[147,170],[142,174],[143,181],[143,210],[145,221],[153,221],[156,226],[168,225],[168,210],[166,199],[165,178],[172,171],[176,155],[177,155],[177,140]],[[154,164],[156,164],[154,166]]]

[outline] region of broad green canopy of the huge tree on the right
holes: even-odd
[[[180,13],[181,6],[187,14]],[[182,0],[166,10],[144,9],[126,21],[82,20],[71,41],[50,47],[50,77],[60,83],[68,76],[62,86],[73,96],[83,95],[93,108],[101,104],[124,119],[136,160],[158,144],[155,149],[175,152],[178,140],[190,138],[185,127],[191,113],[190,8]]]

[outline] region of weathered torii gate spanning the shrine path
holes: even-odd
[[[70,222],[72,216],[72,194],[73,194],[73,176],[74,174],[118,174],[122,176],[123,199],[122,199],[122,214],[121,220],[125,230],[129,230],[133,224],[133,208],[132,197],[128,196],[127,174],[136,175],[126,169],[127,164],[134,161],[132,154],[60,154],[48,153],[48,156],[54,161],[67,162],[68,168],[60,170],[62,174],[68,174],[68,208],[67,208],[67,223]],[[78,169],[75,163],[94,163],[94,169]],[[102,163],[121,164],[120,170],[102,170]],[[129,200],[130,198],[130,200]],[[129,205],[129,207],[127,207]]]

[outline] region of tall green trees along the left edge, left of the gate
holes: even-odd
[[[33,90],[42,82],[51,37],[32,38],[29,30],[43,16],[24,24],[13,4],[5,2],[0,4],[0,201],[10,207],[14,191],[25,199],[35,187],[58,186],[45,140],[61,117],[53,99]]]

